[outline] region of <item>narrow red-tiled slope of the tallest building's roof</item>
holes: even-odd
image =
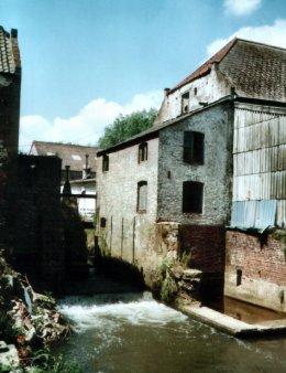
[[[212,57],[210,57],[208,61],[206,61],[201,66],[199,66],[194,73],[191,73],[189,76],[187,76],[184,81],[182,81],[179,84],[177,84],[174,88],[172,88],[168,94],[179,89],[180,87],[183,87],[184,85],[196,81],[197,78],[207,75],[210,70],[211,70],[211,65],[215,62],[220,62],[226,54],[230,51],[230,49],[233,46],[233,44],[235,43],[237,38],[232,39],[227,45],[224,45],[219,52],[217,52]]]

